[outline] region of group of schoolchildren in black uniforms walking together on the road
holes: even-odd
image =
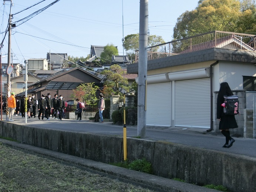
[[[37,116],[37,108],[38,108],[38,119],[44,120],[46,118],[47,120],[50,120],[50,116],[54,119],[60,119],[62,120],[64,118],[64,109],[67,107],[67,102],[64,101],[62,95],[58,98],[58,94],[54,95],[54,98],[51,98],[51,94],[48,93],[47,97],[43,94],[42,97],[37,101],[35,98],[35,95],[32,94],[32,96],[28,97],[27,100],[27,114],[25,114],[25,96],[21,101],[18,99],[16,100],[16,116],[22,115],[22,117],[25,117],[25,115],[28,116],[28,118],[36,118]]]

